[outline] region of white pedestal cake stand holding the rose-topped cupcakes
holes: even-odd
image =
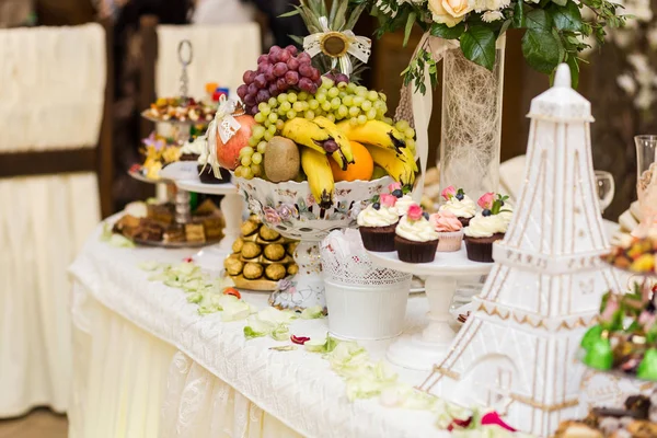
[[[454,338],[449,307],[457,290],[457,280],[460,277],[486,275],[493,264],[469,261],[465,245],[458,252],[436,253],[436,260],[431,263],[401,262],[395,251],[368,251],[368,254],[379,266],[427,277],[425,288],[429,300],[429,324],[422,333],[402,335],[390,345],[387,356],[391,362],[405,368],[430,370],[447,355]]]

